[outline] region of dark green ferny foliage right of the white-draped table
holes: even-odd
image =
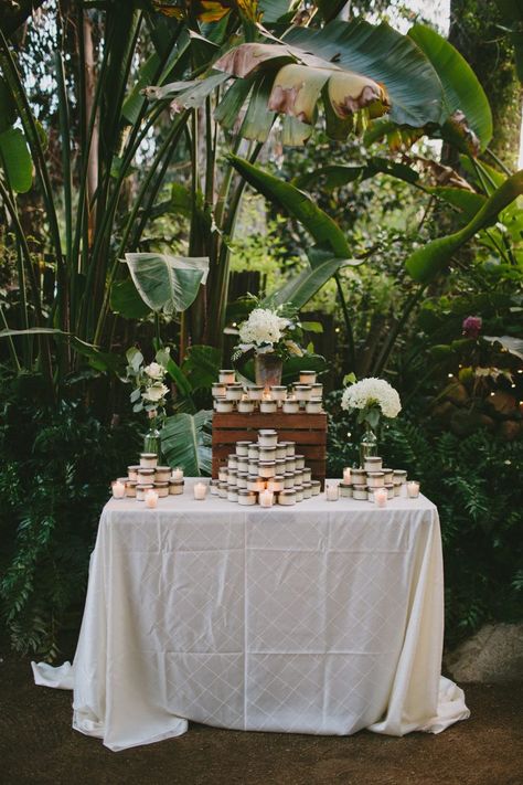
[[[333,477],[357,462],[359,434],[339,399],[334,394],[329,405],[328,475]],[[383,428],[380,444],[386,465],[419,479],[438,507],[447,644],[484,622],[521,619],[523,442],[506,443],[485,431],[462,438],[399,417]]]

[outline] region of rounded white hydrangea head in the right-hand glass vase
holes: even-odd
[[[357,411],[357,422],[375,429],[381,415],[397,417],[402,411],[402,402],[397,391],[388,382],[370,376],[344,390],[341,407],[348,412]]]

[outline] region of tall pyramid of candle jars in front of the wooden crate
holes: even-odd
[[[295,442],[279,442],[278,433],[268,428],[258,431],[257,442],[237,442],[211,484],[211,494],[246,506],[290,506],[319,492],[320,482],[311,478]]]

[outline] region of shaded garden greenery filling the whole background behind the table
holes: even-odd
[[[167,457],[205,474],[211,383],[250,295],[290,300],[308,323],[301,365],[330,393],[331,476],[356,459],[345,374],[399,391],[383,454],[439,508],[448,644],[519,618],[517,3],[452,0],[456,50],[408,3],[381,0],[341,21],[345,3],[50,0],[28,21],[24,6],[0,4],[0,602],[14,649],[56,657],[78,625],[108,481],[145,429],[126,350],[171,347]],[[381,20],[416,26],[365,26]],[[396,115],[374,103],[340,118],[324,93],[307,123],[267,112],[281,63],[212,67],[260,23],[277,39],[292,23],[323,31],[319,56],[329,25],[346,24],[343,67],[372,31],[363,62],[394,87]],[[166,276],[166,254],[178,285],[158,299],[140,265]],[[205,285],[192,258],[209,258]]]

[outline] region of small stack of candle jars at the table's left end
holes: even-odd
[[[183,494],[184,480],[182,469],[171,469],[170,466],[158,466],[156,453],[141,453],[140,463],[127,467],[127,477],[120,477],[113,484],[115,498],[130,497],[137,501],[146,501],[152,495],[157,499],[166,496]],[[152,494],[150,494],[150,491]]]

